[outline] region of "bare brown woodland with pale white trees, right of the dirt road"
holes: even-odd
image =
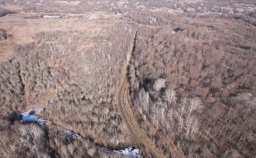
[[[189,157],[254,157],[255,27],[194,21],[174,25],[177,34],[139,29],[128,68],[134,111],[167,155],[145,119]]]

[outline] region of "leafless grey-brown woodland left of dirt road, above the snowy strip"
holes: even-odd
[[[10,126],[14,123],[16,126],[20,112],[36,105],[37,108],[47,109],[40,117],[102,146],[125,148],[129,142],[128,133],[126,125],[117,113],[115,93],[122,69],[127,63],[126,55],[133,40],[135,26],[122,23],[114,29],[104,28],[96,34],[90,31],[41,32],[36,35],[34,43],[13,47],[17,60],[10,60],[1,65],[3,125]],[[126,31],[119,32],[120,29]],[[121,37],[126,37],[127,41],[121,40]],[[92,45],[79,47],[89,40],[93,41]],[[52,103],[48,103],[52,100]],[[12,128],[6,129],[12,131]],[[5,133],[7,131],[4,130]],[[52,142],[56,140],[49,136],[49,133],[46,134],[50,139],[50,146],[54,148],[50,155],[64,152],[60,148],[65,147]],[[69,141],[72,142],[70,138],[67,139],[68,144]],[[65,144],[66,142],[63,145]],[[95,152],[96,147],[91,150]],[[86,151],[83,154],[65,149],[65,152],[55,155],[86,155]],[[94,152],[89,155],[96,156],[97,152]]]

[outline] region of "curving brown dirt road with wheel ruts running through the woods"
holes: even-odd
[[[136,37],[139,29],[140,27],[137,29],[134,35],[133,45],[130,50],[130,57],[132,56],[135,50]],[[127,83],[127,77],[126,77],[126,69],[127,69],[128,63],[125,66],[122,84],[118,92],[118,109],[122,115],[122,119],[125,121],[126,125],[128,126],[130,133],[135,137],[137,146],[146,148],[150,152],[150,154],[152,154],[155,158],[165,158],[166,156],[164,156],[162,151],[156,147],[156,144],[152,142],[152,140],[150,140],[146,132],[140,128],[140,125],[138,124],[136,119],[133,117],[132,108],[129,106],[129,104],[127,104],[128,99],[125,100],[124,98],[124,93],[128,92],[127,91],[128,83]]]

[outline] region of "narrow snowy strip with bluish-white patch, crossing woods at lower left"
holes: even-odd
[[[42,113],[44,112],[44,109],[36,109],[36,108],[33,108],[33,109],[30,109],[28,112],[25,112],[25,113],[21,113],[22,115],[22,120],[21,122],[22,123],[25,123],[25,122],[31,122],[31,121],[35,121],[37,122],[39,125],[48,125],[48,124],[51,124],[51,125],[54,125],[56,128],[64,131],[65,133],[69,134],[69,135],[72,135],[73,138],[82,138],[85,142],[90,142],[90,143],[93,143],[91,142],[90,140],[87,140],[83,137],[81,137],[80,135],[77,135],[71,131],[68,131],[67,129],[64,129],[50,121],[47,121],[47,120],[44,120],[44,119],[39,119],[38,116],[35,114],[35,115],[32,115],[30,113]],[[124,150],[110,150],[108,148],[104,148],[103,146],[99,146],[97,144],[95,144],[96,146],[98,146],[100,148],[100,150],[103,150],[103,151],[106,151],[106,152],[113,152],[113,153],[119,153],[119,154],[124,154],[126,156],[131,156],[131,157],[135,157],[135,158],[140,158],[142,157],[142,150],[140,149],[136,149],[136,148],[125,148]]]

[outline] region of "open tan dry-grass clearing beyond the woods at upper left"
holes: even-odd
[[[69,31],[69,30],[90,30],[93,32],[100,31],[102,26],[109,26],[116,23],[118,16],[89,13],[89,14],[66,14],[69,16],[84,15],[85,18],[59,18],[49,19],[40,18],[41,14],[8,14],[0,18],[1,29],[7,31],[8,35],[12,35],[7,41],[0,42],[0,62],[14,58],[11,51],[12,45],[22,45],[33,42],[34,36],[42,31]],[[90,20],[87,17],[97,15],[100,20]],[[20,31],[22,30],[22,31]],[[89,43],[88,43],[89,45]]]

